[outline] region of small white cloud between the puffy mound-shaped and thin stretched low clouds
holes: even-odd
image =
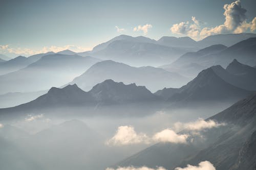
[[[173,130],[165,129],[154,135],[153,139],[158,142],[171,142],[171,143],[186,143],[189,135],[177,134]]]

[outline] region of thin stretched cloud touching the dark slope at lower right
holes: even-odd
[[[224,126],[225,124],[219,124],[214,120],[207,120],[205,121],[202,118],[199,118],[195,122],[188,122],[188,123],[180,123],[177,122],[174,124],[174,129],[176,132],[181,130],[189,130],[189,131],[201,131],[203,129],[211,129],[216,128],[219,126]]]

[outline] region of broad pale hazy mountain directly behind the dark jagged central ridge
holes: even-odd
[[[95,84],[112,79],[125,84],[136,83],[145,85],[147,89],[156,91],[164,87],[181,87],[189,80],[174,72],[151,66],[132,67],[112,60],[98,62],[81,76],[69,84],[77,84],[84,91],[90,90]]]

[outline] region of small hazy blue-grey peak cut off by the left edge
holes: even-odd
[[[6,62],[0,62],[0,75],[8,74],[26,67],[31,64],[33,61],[29,60],[27,57],[18,56],[14,59],[8,60]]]

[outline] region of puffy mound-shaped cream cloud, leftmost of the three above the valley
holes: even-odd
[[[148,137],[143,133],[136,133],[132,126],[118,127],[116,134],[106,142],[113,145],[127,145],[136,143],[148,143]]]

